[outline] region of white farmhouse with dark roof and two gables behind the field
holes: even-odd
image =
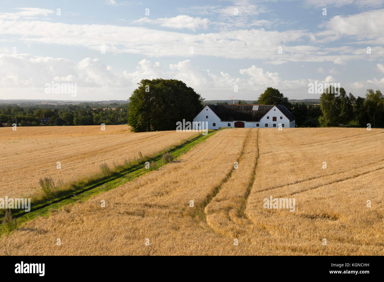
[[[194,118],[196,122],[199,128],[201,122],[208,122],[208,129],[279,127],[279,124],[281,127],[295,127],[295,117],[283,105],[207,105]]]

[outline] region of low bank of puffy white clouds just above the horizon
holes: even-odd
[[[251,66],[240,69],[243,77],[228,73],[212,73],[207,69],[194,67],[187,59],[165,68],[159,62],[142,59],[133,72],[114,72],[111,66],[104,65],[100,59],[85,58],[78,63],[51,57],[38,57],[30,54],[0,55],[0,87],[4,90],[0,99],[8,99],[10,93],[15,99],[31,96],[35,99],[73,99],[66,94],[45,94],[46,83],[77,83],[79,100],[128,99],[141,79],[179,79],[195,89],[207,99],[227,99],[233,93],[233,86],[238,85],[239,99],[257,99],[266,87],[278,87],[281,91],[297,91],[308,84],[304,79],[286,81],[277,72],[263,71]],[[7,94],[6,94],[7,93]],[[47,96],[48,95],[48,96]],[[228,96],[228,97],[227,97]],[[113,98],[111,98],[113,97]]]

